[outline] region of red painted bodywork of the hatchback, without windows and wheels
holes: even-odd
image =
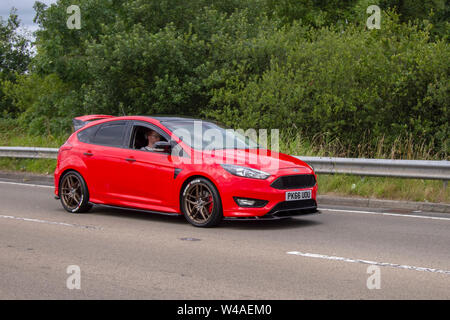
[[[88,117],[84,117],[84,120]],[[97,119],[98,116],[95,117]],[[78,119],[81,118],[83,117]],[[140,116],[108,117],[91,122],[80,130],[116,120],[140,120],[152,123],[170,134],[170,131],[158,120]],[[203,159],[203,163],[195,163],[195,161],[183,163],[183,159],[167,154],[86,144],[78,140],[77,132],[73,133],[60,148],[54,174],[54,192],[55,195],[59,195],[58,184],[61,175],[67,170],[76,170],[86,181],[90,202],[97,204],[181,214],[180,193],[183,183],[191,177],[202,176],[209,179],[219,191],[225,217],[263,216],[277,203],[285,200],[286,190],[278,190],[270,186],[275,179],[291,174],[315,175],[312,168],[305,162],[270,150],[262,150],[267,155],[257,155],[254,150],[198,151],[190,148],[177,137],[173,137],[173,140],[191,155],[191,159]],[[85,152],[94,155],[86,156]],[[276,157],[279,158],[279,168],[268,169],[257,163],[257,160],[264,161]],[[136,161],[128,162],[126,158],[134,158]],[[213,162],[214,159],[216,163]],[[219,164],[233,163],[232,161],[238,165],[266,171],[271,176],[266,180],[237,177],[225,171]],[[205,162],[211,164],[205,164]],[[176,179],[174,178],[175,168],[182,169]],[[317,184],[313,188],[289,191],[308,189],[312,190],[312,199],[316,200]],[[233,196],[269,202],[263,208],[242,208],[235,203]]]

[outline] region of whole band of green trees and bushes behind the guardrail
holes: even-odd
[[[81,30],[66,26],[73,4]],[[380,30],[365,27],[370,4],[384,10]],[[35,9],[31,72],[2,84],[30,132],[61,135],[91,113],[202,115],[320,137],[354,150],[348,156],[411,139],[448,155],[443,0],[59,0]]]

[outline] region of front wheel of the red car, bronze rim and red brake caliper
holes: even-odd
[[[205,178],[195,178],[184,186],[180,207],[186,220],[196,227],[214,227],[223,219],[219,192]]]

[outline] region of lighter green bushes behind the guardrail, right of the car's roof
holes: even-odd
[[[243,128],[296,128],[308,138],[357,146],[364,135],[393,143],[412,134],[434,141],[448,154],[450,51],[429,42],[428,30],[399,24],[391,15],[382,30],[311,29],[300,42],[286,42],[287,57],[273,57],[262,75],[239,75],[214,90],[206,114]],[[294,24],[279,31],[304,33]],[[368,141],[375,145],[376,139]]]

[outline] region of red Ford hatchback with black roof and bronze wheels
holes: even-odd
[[[317,212],[309,165],[213,122],[90,115],[74,127],[55,170],[55,198],[69,212],[99,204],[184,215],[198,227]]]

